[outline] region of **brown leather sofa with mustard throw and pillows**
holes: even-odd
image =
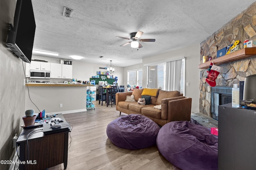
[[[190,121],[192,98],[187,98],[178,91],[158,90],[156,96],[151,96],[150,104],[140,105],[144,89],[134,89],[133,92],[121,92],[116,94],[116,110],[126,114],[144,115],[158,125],[163,126],[170,121]],[[149,89],[147,89],[149,90]],[[126,102],[126,96],[134,94],[136,102]],[[161,109],[153,108],[161,105]]]

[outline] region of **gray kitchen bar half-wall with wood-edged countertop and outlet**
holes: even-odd
[[[94,85],[27,83],[25,110],[34,109],[38,113],[45,109],[46,114],[86,111],[86,90],[90,86]]]

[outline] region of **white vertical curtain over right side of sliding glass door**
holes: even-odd
[[[166,89],[181,91],[182,60],[170,61],[166,64]]]

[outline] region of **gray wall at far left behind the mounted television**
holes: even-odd
[[[22,60],[6,47],[8,23],[13,24],[16,0],[0,1],[0,160],[11,160],[15,154],[12,138],[20,134],[25,105]],[[9,165],[0,164],[0,169]]]

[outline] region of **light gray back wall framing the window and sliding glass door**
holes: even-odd
[[[198,64],[200,64],[200,44],[191,45],[182,49],[169,51],[159,55],[145,57],[142,64],[128,66],[124,68],[124,84],[127,84],[127,71],[142,68],[143,84],[142,87],[147,86],[147,66],[144,64],[157,63],[161,61],[168,61],[179,57],[186,57],[186,75],[185,83],[188,82],[189,86],[185,86],[185,96],[192,98],[191,111],[199,112],[199,73]]]

